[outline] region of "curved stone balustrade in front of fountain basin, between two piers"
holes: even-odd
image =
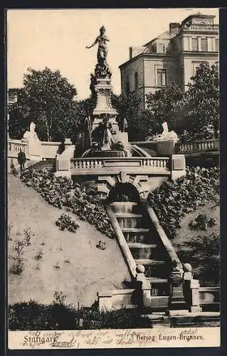
[[[169,160],[169,157],[74,158],[70,159],[70,168],[74,172],[114,167],[141,167],[169,171]]]

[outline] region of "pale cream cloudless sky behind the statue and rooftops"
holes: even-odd
[[[78,92],[90,96],[90,73],[97,63],[97,45],[87,49],[106,28],[107,63],[112,71],[113,92],[120,94],[119,66],[129,59],[130,46],[142,46],[181,22],[201,12],[215,15],[218,9],[12,9],[7,11],[8,88],[23,86],[27,68],[60,70]]]

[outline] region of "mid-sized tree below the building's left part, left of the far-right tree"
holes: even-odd
[[[174,83],[171,87],[164,87],[155,93],[149,93],[146,97],[149,135],[162,132],[162,123],[167,121],[170,130],[181,133],[184,122],[181,120],[181,112],[184,108],[184,93]]]

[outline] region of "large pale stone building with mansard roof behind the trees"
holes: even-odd
[[[135,93],[146,108],[146,95],[173,83],[187,89],[201,62],[218,63],[219,26],[215,16],[194,14],[169,23],[142,47],[130,47],[130,59],[120,66],[122,94]]]

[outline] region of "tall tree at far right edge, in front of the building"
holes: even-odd
[[[209,66],[203,62],[191,78],[189,90],[186,92],[186,130],[196,138],[206,138],[208,125],[218,137],[219,126],[219,74],[218,66]]]

